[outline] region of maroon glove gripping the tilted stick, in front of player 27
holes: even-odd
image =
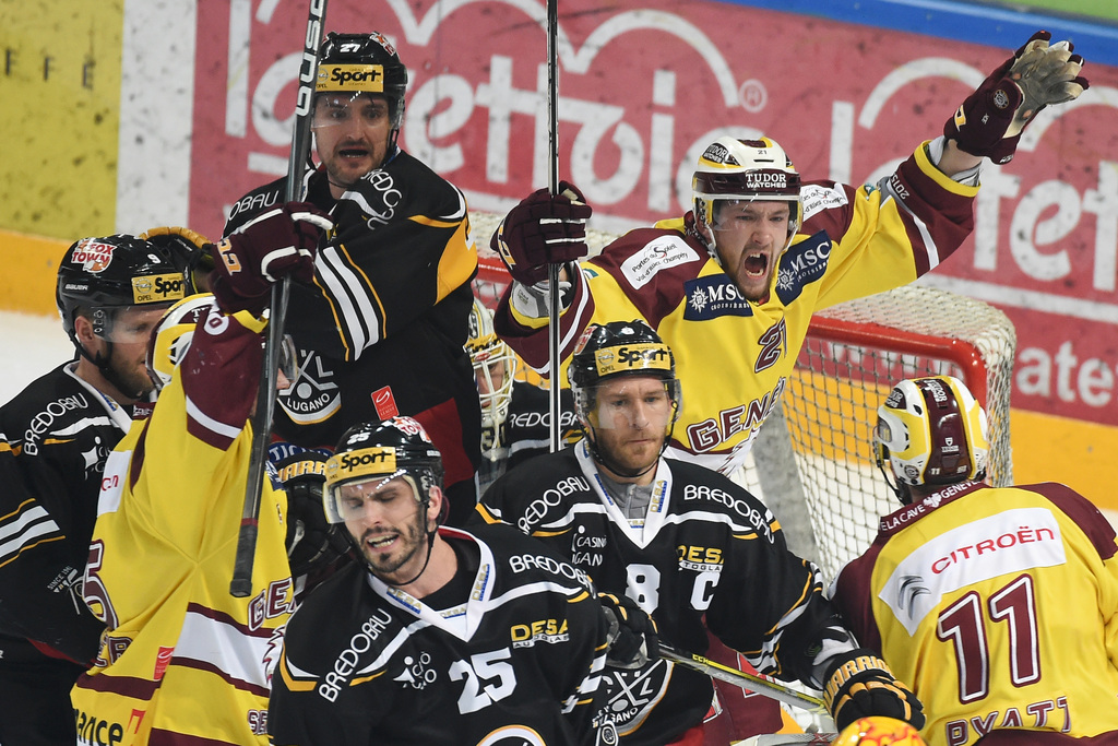
[[[250,311],[259,315],[272,283],[290,275],[300,282],[314,277],[314,253],[320,232],[333,228],[325,213],[307,202],[288,202],[263,213],[234,230],[217,246],[210,285],[225,313]]]

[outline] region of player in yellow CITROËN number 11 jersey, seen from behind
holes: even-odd
[[[986,415],[954,377],[898,384],[873,447],[902,507],[832,594],[925,702],[925,739],[1118,744],[1118,546],[1106,518],[1063,484],[984,484]]]

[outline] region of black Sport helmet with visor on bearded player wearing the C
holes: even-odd
[[[591,324],[579,339],[567,377],[575,412],[595,459],[622,476],[638,476],[654,466],[655,462],[638,473],[618,468],[616,460],[600,447],[597,431],[634,426],[638,419],[656,419],[653,424],[660,425],[656,429],[663,433],[660,454],[667,447],[683,398],[675,378],[675,357],[660,334],[639,320]],[[660,383],[659,393],[636,390],[637,381],[648,378]],[[626,383],[633,385],[618,385]]]

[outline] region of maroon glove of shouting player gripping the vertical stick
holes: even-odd
[[[498,227],[490,247],[501,255],[517,282],[534,285],[548,278],[549,264],[575,262],[589,253],[586,221],[593,210],[582,192],[559,182],[559,193],[533,191]]]

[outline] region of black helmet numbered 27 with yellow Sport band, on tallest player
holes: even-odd
[[[408,68],[400,62],[383,34],[337,34],[331,31],[319,48],[320,93],[379,93],[388,100],[392,123],[389,147],[404,123],[404,94],[408,88]]]

